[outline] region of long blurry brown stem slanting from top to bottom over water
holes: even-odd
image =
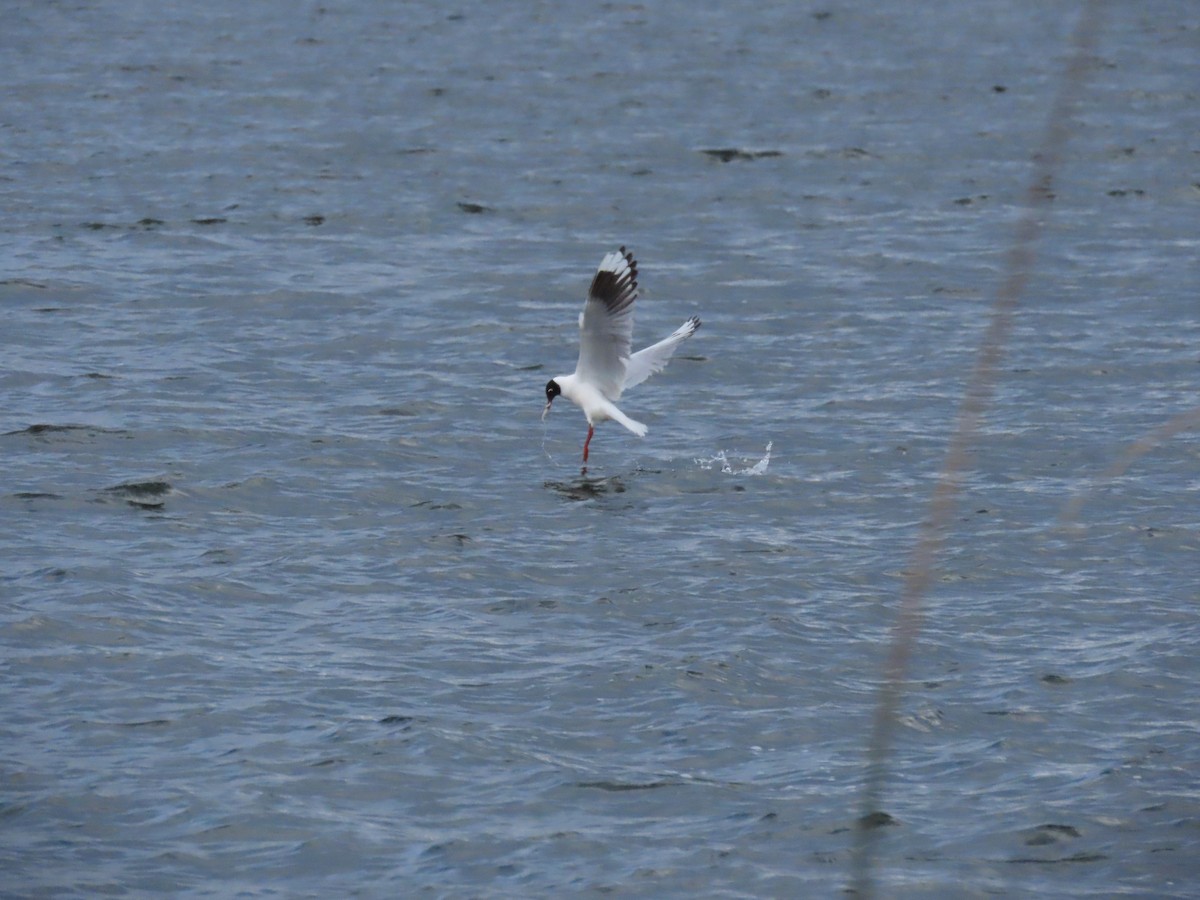
[[[995,392],[996,370],[1013,328],[1016,305],[1025,292],[1033,268],[1034,247],[1042,235],[1052,198],[1051,185],[1067,138],[1070,114],[1082,90],[1100,30],[1102,0],[1088,0],[1080,11],[1072,36],[1072,54],[1063,72],[1058,95],[1046,120],[1040,145],[1033,156],[1033,178],[1025,198],[1025,211],[1016,224],[1013,244],[1004,259],[1004,278],[992,304],[988,328],[976,355],[974,371],[967,384],[950,444],[942,462],[929,511],[922,522],[912,559],[906,568],[900,610],[888,646],[883,679],[876,701],[868,744],[866,772],[851,862],[852,892],[859,898],[875,895],[875,857],[888,780],[888,754],[895,730],[896,710],[904,696],[908,662],[920,634],[923,600],[934,580],[934,568],[946,542],[947,524],[954,509],[967,454],[974,444],[979,420]]]

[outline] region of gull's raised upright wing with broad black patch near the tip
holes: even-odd
[[[580,316],[580,361],[575,374],[608,400],[620,397],[625,364],[634,342],[637,262],[624,247],[607,253],[592,280]]]

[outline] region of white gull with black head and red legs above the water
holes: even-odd
[[[622,391],[641,384],[655,372],[661,372],[676,347],[700,328],[692,316],[670,337],[630,354],[634,342],[634,301],[637,300],[637,262],[622,247],[600,260],[600,269],[592,280],[588,300],[580,313],[580,361],[575,372],[556,376],[546,383],[545,419],[554,397],[562,394],[583,410],[588,418],[588,438],[583,442],[583,462],[588,461],[588,444],[595,426],[605,419],[616,419],[642,437],[646,426],[617,409]]]

